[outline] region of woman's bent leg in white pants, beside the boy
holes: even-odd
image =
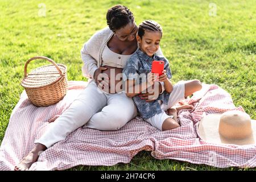
[[[106,95],[108,106],[96,113],[86,126],[97,130],[119,130],[127,122],[136,117],[136,107],[125,93]]]

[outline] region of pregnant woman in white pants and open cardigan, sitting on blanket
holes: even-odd
[[[15,170],[30,168],[41,152],[85,124],[92,129],[118,130],[137,115],[133,100],[122,92],[122,86],[118,88],[117,85],[122,80],[118,76],[122,75],[126,61],[138,48],[135,38],[138,27],[133,13],[122,5],[109,9],[106,19],[109,27],[96,32],[81,49],[82,73],[93,79],[46,133],[35,141],[35,147],[15,166]],[[159,90],[163,91],[161,85]],[[148,95],[144,94],[144,98],[147,99]]]

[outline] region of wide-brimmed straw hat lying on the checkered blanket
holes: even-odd
[[[256,120],[237,110],[209,114],[199,123],[199,135],[210,143],[255,144]]]

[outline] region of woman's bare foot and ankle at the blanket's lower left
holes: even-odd
[[[26,171],[30,166],[38,160],[39,155],[46,150],[46,146],[36,143],[35,147],[22,159],[22,161],[14,167],[15,171]]]

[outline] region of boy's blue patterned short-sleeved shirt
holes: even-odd
[[[138,49],[127,61],[125,68],[123,69],[123,80],[136,80],[136,84],[141,84],[146,81],[146,77],[141,77],[141,74],[147,75],[151,72],[152,61],[162,60],[164,61],[164,69],[166,70],[166,75],[168,78],[172,78],[171,70],[169,67],[169,62],[164,56],[154,55],[152,57],[148,56],[146,53]],[[163,104],[168,104],[170,93],[164,91],[159,94],[157,100],[152,102],[146,102],[146,100],[141,99],[138,95],[133,97],[135,105],[141,114],[142,118],[148,119],[153,117],[155,114],[162,113],[162,109],[158,100],[163,101]]]

